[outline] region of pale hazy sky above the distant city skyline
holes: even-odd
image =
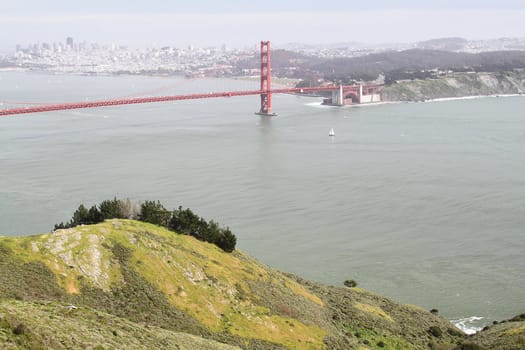
[[[0,0],[0,47],[410,42],[525,37],[525,0]]]

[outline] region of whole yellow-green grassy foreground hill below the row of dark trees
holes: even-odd
[[[455,349],[464,341],[415,306],[305,281],[143,222],[0,238],[1,348]]]

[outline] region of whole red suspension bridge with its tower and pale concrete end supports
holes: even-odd
[[[261,108],[257,112],[259,115],[273,116],[272,112],[272,94],[281,93],[309,93],[320,91],[331,91],[332,98],[325,99],[327,104],[331,105],[345,105],[351,103],[377,102],[379,95],[377,89],[382,85],[368,84],[368,85],[329,85],[303,88],[282,88],[272,89],[271,86],[271,61],[270,61],[270,42],[261,41],[261,87],[259,90],[245,90],[245,91],[227,91],[227,92],[212,92],[201,94],[188,95],[173,95],[173,96],[156,96],[156,97],[136,97],[136,98],[120,98],[100,101],[87,102],[67,102],[58,104],[42,104],[31,107],[19,107],[10,109],[0,109],[0,116],[27,114],[37,112],[50,112],[68,109],[106,107],[106,106],[120,106],[137,103],[153,103],[153,102],[167,102],[167,101],[182,101],[194,100],[203,98],[219,98],[219,97],[234,97],[234,96],[261,96]]]

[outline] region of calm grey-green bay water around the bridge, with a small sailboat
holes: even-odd
[[[256,88],[177,77],[0,72],[0,108]],[[439,309],[464,329],[525,312],[525,97],[324,107],[259,97],[0,118],[0,234],[80,203],[182,205],[307,279]],[[328,136],[333,128],[335,136]]]

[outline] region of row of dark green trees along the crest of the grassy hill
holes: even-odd
[[[169,211],[159,201],[145,201],[140,209],[129,200],[114,198],[102,201],[98,206],[87,209],[81,204],[73,213],[69,222],[55,225],[55,230],[91,225],[106,219],[136,219],[171,231],[193,236],[200,241],[213,243],[225,252],[232,252],[237,244],[237,238],[229,227],[221,227],[217,222],[207,221],[196,215],[191,209]]]

